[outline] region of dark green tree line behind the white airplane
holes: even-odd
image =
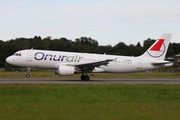
[[[0,40],[0,67],[4,67],[6,58],[14,54],[18,50],[23,49],[42,49],[55,51],[70,51],[83,53],[98,53],[112,55],[139,56],[143,54],[153,43],[154,39],[146,39],[143,45],[138,42],[136,45],[126,45],[124,42],[119,42],[116,45],[99,45],[97,40],[90,37],[81,37],[75,40],[66,38],[52,39],[50,36],[41,38],[16,38],[8,41]],[[166,57],[173,57],[180,54],[180,43],[170,43]]]

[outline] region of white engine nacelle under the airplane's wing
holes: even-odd
[[[73,75],[74,74],[74,67],[60,65],[58,70],[55,70],[54,73],[56,75]]]

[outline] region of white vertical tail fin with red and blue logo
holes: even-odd
[[[141,57],[164,60],[172,33],[164,33]]]

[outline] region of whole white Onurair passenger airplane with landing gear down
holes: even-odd
[[[171,66],[171,61],[164,60],[171,36],[172,33],[164,33],[144,54],[137,57],[26,49],[7,57],[6,62],[27,67],[27,78],[30,77],[31,68],[45,68],[53,69],[57,75],[82,73],[81,80],[88,81],[88,73],[93,72],[132,73]]]

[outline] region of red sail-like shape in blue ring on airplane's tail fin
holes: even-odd
[[[153,45],[147,53],[154,58],[161,57],[166,50],[166,46],[164,44],[164,39],[159,39],[155,45]]]

